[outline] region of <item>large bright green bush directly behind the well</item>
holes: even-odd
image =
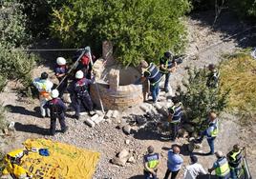
[[[187,0],[68,0],[69,6],[53,10],[52,32],[66,46],[114,43],[123,65],[156,60],[164,50],[181,52],[186,42],[181,17],[190,10]]]

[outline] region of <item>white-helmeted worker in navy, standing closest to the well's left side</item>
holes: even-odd
[[[71,85],[71,89],[69,89],[75,96],[74,107],[75,107],[75,118],[79,119],[80,117],[80,108],[81,105],[88,109],[90,115],[94,115],[93,111],[93,102],[91,96],[89,94],[89,85],[94,82],[93,79],[87,79],[84,77],[84,73],[82,70],[78,70],[75,73],[75,81]]]

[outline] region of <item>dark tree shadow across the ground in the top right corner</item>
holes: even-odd
[[[223,10],[214,25],[214,10],[192,13],[190,17],[200,21],[201,26],[211,26],[213,31],[224,32],[223,40],[228,36],[238,34],[229,40],[235,40],[240,48],[256,47],[256,27],[253,27],[250,22],[238,20],[239,18],[230,10]],[[246,31],[243,32],[244,30]]]

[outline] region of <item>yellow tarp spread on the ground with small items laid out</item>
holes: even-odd
[[[89,179],[93,177],[99,153],[48,139],[28,139],[24,146],[49,149],[50,156],[29,152],[22,158],[22,167],[32,173],[32,178]]]

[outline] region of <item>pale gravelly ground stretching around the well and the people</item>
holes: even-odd
[[[203,19],[199,19],[198,15],[195,14],[185,21],[189,32],[189,47],[187,53],[196,54],[197,60],[185,60],[179,69],[171,76],[170,83],[173,90],[181,84],[181,80],[186,75],[185,69],[187,67],[191,68],[196,66],[203,68],[209,63],[218,63],[221,60],[221,54],[232,52],[237,48],[244,47],[246,44],[242,36],[235,36],[229,41],[224,41],[224,37],[227,35],[245,30],[247,28],[245,25],[237,22],[237,20],[230,15],[224,15],[223,18],[219,19],[216,27],[212,28],[208,25],[210,24],[208,22],[211,22],[211,18],[214,17],[208,14],[210,13],[205,12],[204,16],[201,15]],[[251,31],[247,32],[244,34],[244,37],[248,37],[251,34]],[[244,39],[243,43],[241,39]],[[224,43],[212,49],[203,50],[205,47],[217,44],[220,41],[224,41]],[[195,51],[200,51],[200,53],[198,54],[198,52]],[[48,67],[40,66],[34,70],[34,76],[38,75],[42,70],[50,71]],[[53,76],[53,73],[51,73],[51,75]],[[160,92],[160,96],[160,106],[166,107],[167,105],[171,105],[170,102],[166,100],[166,94],[164,92]],[[39,103],[37,100],[21,100],[17,95],[13,83],[10,83],[8,88],[5,89],[5,92],[0,94],[0,99],[4,105],[10,109],[7,113],[8,120],[16,123],[16,131],[14,135],[8,138],[8,144],[0,143],[1,150],[5,152],[22,147],[22,141],[32,137],[46,137],[75,145],[78,148],[93,149],[101,153],[94,178],[142,178],[142,156],[149,145],[154,146],[155,150],[160,153],[160,178],[163,177],[166,170],[166,155],[172,145],[178,144],[181,146],[181,154],[183,155],[184,163],[185,165],[188,164],[189,153],[186,150],[186,138],[180,138],[175,143],[170,142],[166,140],[160,132],[155,130],[154,123],[150,121],[149,125],[143,128],[144,117],[141,116],[146,113],[143,108],[135,107],[119,112],[116,119],[113,118],[100,123],[95,128],[90,128],[84,124],[84,120],[88,117],[87,115],[82,116],[78,121],[68,115],[66,122],[69,126],[69,130],[65,134],[57,133],[52,137],[48,136],[50,121],[48,118],[40,118]],[[152,108],[153,111],[157,113],[156,108],[151,107],[150,104],[146,104],[146,106],[147,108]],[[158,120],[158,117],[159,116],[155,116],[154,120]],[[142,121],[140,121],[141,119]],[[239,118],[230,113],[224,112],[220,119],[221,130],[220,135],[216,139],[216,148],[227,152],[236,143],[245,145],[247,148],[247,159],[250,171],[253,176],[256,176],[255,119],[251,119],[252,125],[249,127],[241,127],[238,121]],[[135,125],[138,124],[136,121],[139,122],[140,126]],[[132,128],[131,134],[128,135],[122,131],[122,127],[127,124]],[[125,167],[110,164],[110,160],[122,149],[128,150],[135,160],[131,160],[131,163],[127,163]],[[203,148],[197,149],[197,151],[208,151],[208,146],[205,141],[203,141]],[[204,169],[210,168],[215,160],[214,156],[199,157],[200,163],[203,164]],[[183,170],[181,170],[178,178],[182,178],[182,171]]]

